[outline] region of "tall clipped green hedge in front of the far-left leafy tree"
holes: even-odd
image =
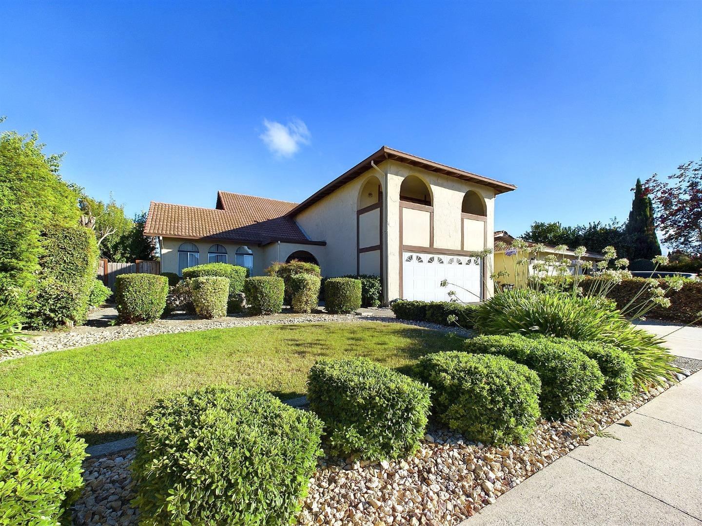
[[[86,322],[98,268],[95,234],[84,227],[51,227],[41,236],[43,255],[36,285],[27,293],[24,315],[33,328]],[[69,292],[70,301],[58,296]],[[55,297],[56,301],[51,301]]]

